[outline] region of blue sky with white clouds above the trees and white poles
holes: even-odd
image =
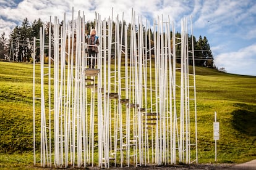
[[[256,76],[256,1],[255,0],[0,0],[0,34],[9,34],[25,17],[30,22],[49,16],[67,19],[79,10],[86,20],[95,12],[101,18],[124,13],[129,23],[132,8],[136,14],[152,20],[168,15],[179,31],[181,18],[192,15],[194,36],[206,36],[218,68],[228,73]],[[180,32],[180,31],[179,31]]]

